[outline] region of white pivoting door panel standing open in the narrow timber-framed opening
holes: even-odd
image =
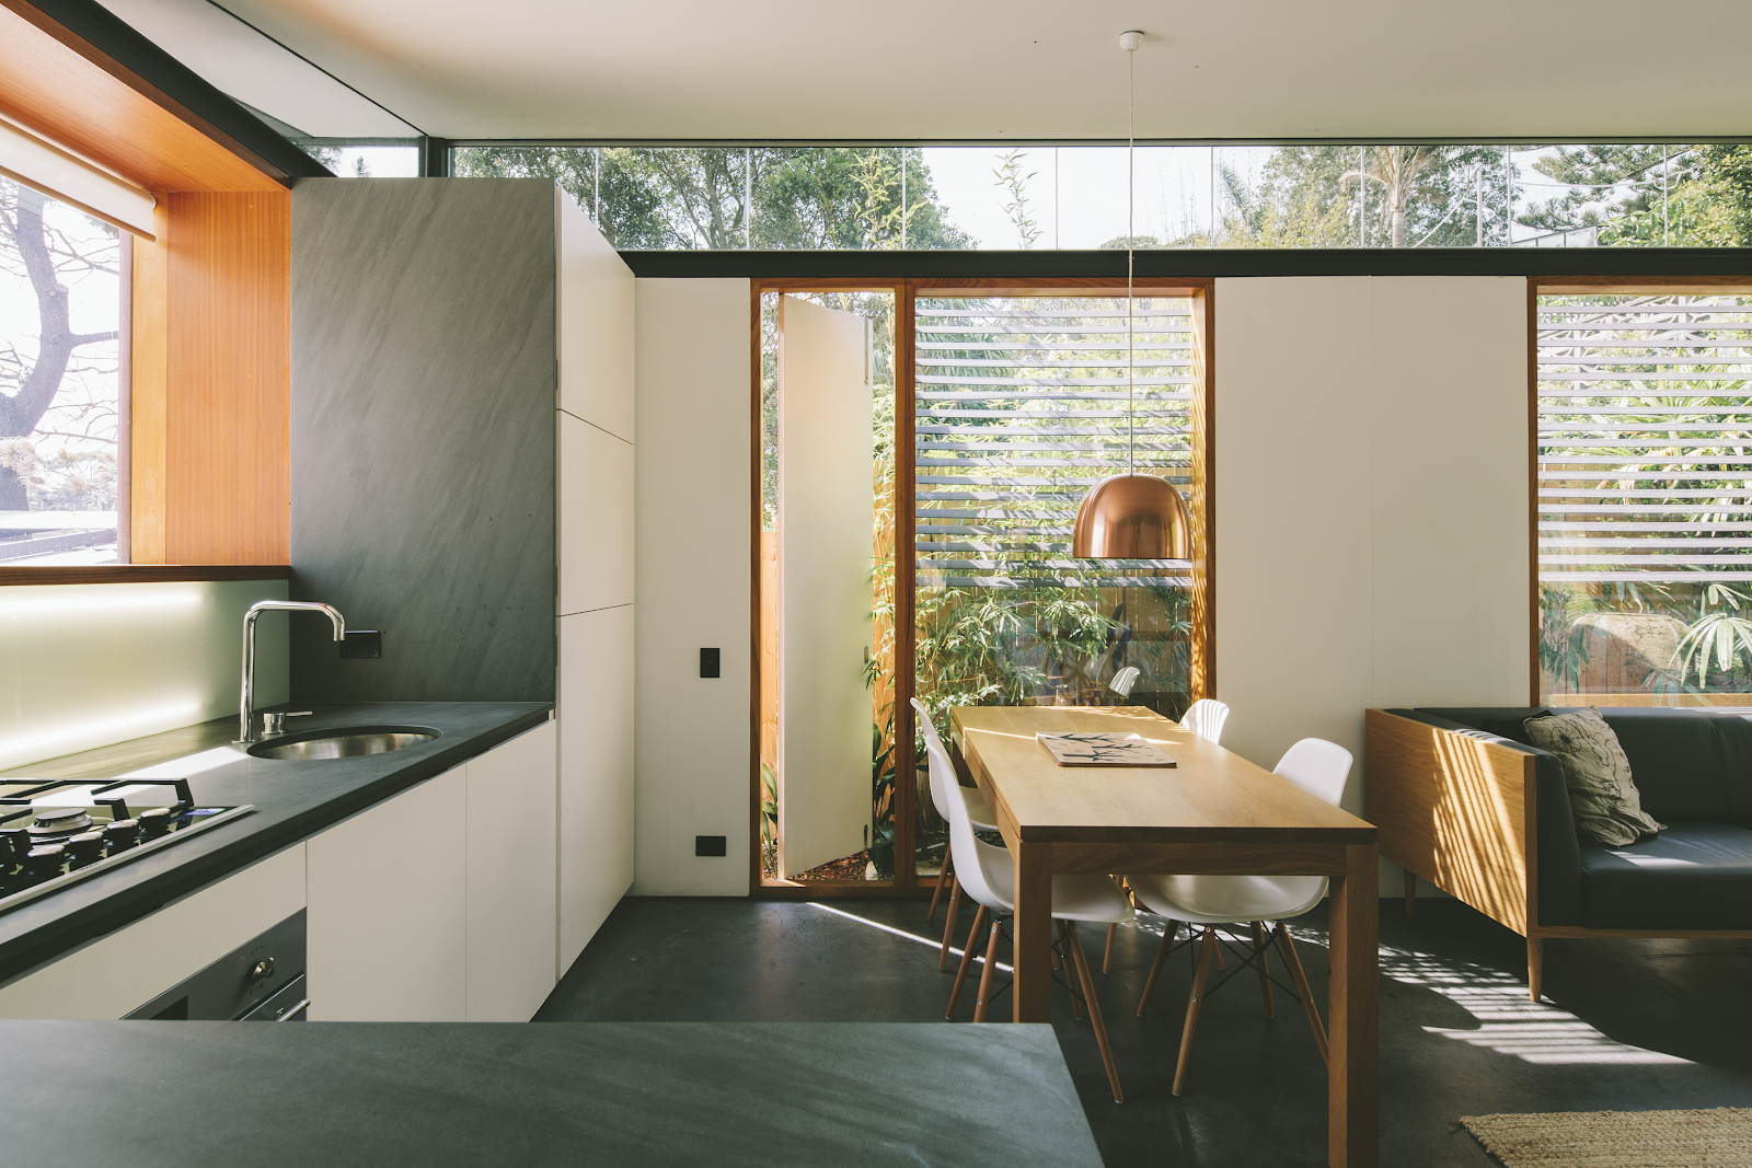
[[[871,823],[867,320],[780,298],[780,849],[785,876],[855,855]]]

